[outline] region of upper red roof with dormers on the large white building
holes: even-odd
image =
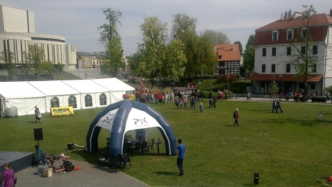
[[[285,18],[279,19],[271,24],[258,28],[255,34],[254,45],[271,45],[271,44],[290,44],[295,42],[294,39],[286,40],[286,30],[294,29],[294,37],[299,38],[299,29],[306,25],[308,18],[297,17],[296,19]],[[332,24],[332,17],[326,14],[313,15],[310,19],[311,30],[314,42],[324,42],[329,30],[329,24]],[[272,41],[272,31],[279,31],[279,37],[277,41]]]

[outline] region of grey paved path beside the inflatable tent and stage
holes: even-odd
[[[53,177],[42,177],[38,175],[35,167],[26,168],[17,172],[16,187],[26,186],[56,186],[56,187],[78,187],[78,186],[149,186],[138,179],[130,177],[120,171],[115,172],[102,166],[100,168],[90,163],[71,160],[75,167],[80,170],[64,172],[53,175]],[[128,168],[130,170],[130,168]]]

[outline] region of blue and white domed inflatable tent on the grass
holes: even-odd
[[[149,105],[135,100],[113,103],[100,112],[92,121],[86,134],[88,152],[98,152],[98,136],[101,128],[111,130],[109,154],[122,154],[124,134],[130,130],[157,127],[163,136],[167,155],[176,155],[176,138],[165,118]],[[144,137],[144,136],[143,136]]]

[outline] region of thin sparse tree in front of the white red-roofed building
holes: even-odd
[[[318,24],[313,15],[315,15],[313,6],[310,8],[304,6],[300,24],[294,29],[294,42],[290,44],[292,53],[289,60],[285,62],[285,64],[293,65],[296,72],[295,78],[304,83],[304,98],[308,94],[310,73],[315,72],[317,67],[324,66],[324,58],[329,58],[325,55],[326,48],[329,46],[313,40],[317,34],[315,26]],[[322,62],[322,64],[318,64],[318,62]]]

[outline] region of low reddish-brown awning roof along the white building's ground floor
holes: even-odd
[[[275,75],[275,78],[273,79],[273,75]],[[319,82],[320,79],[323,77],[321,74],[310,74],[308,75],[308,82]],[[268,80],[273,81],[277,80],[279,81],[279,74],[260,74],[260,73],[252,73],[248,80]],[[298,80],[294,78],[294,74],[283,74],[282,75],[282,81],[295,81]]]

